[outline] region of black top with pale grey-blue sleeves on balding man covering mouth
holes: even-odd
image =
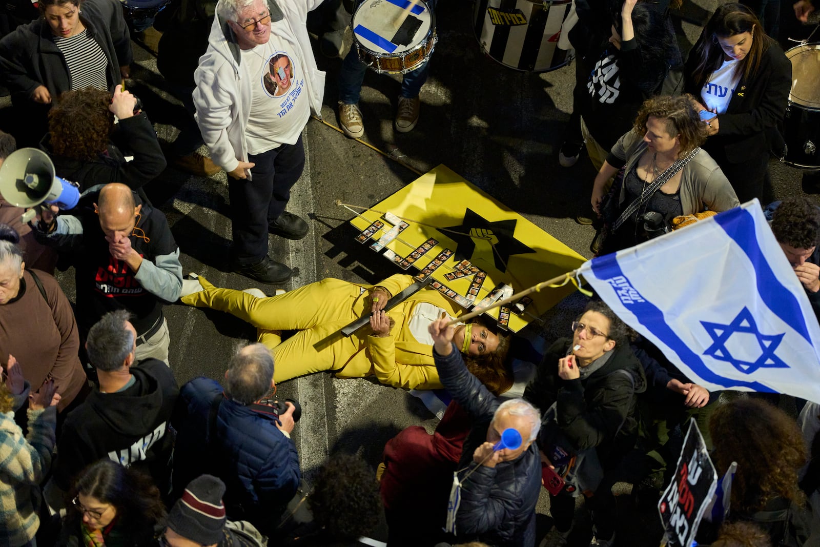
[[[73,251],[81,336],[100,317],[117,309],[133,313],[131,323],[137,334],[143,335],[162,320],[163,303],[180,298],[180,248],[165,215],[134,194],[134,202],[142,209],[130,240],[131,247],[143,257],[139,271],[134,273],[124,261],[111,256],[93,208],[98,196],[98,192],[85,194],[71,215],[57,217],[57,230],[48,236],[38,232],[38,239],[61,251]]]

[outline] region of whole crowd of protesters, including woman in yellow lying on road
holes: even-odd
[[[657,503],[690,420],[718,474],[737,463],[726,522],[701,526],[699,545],[820,545],[820,403],[799,405],[798,420],[765,398],[718,401],[599,299],[560,326],[569,336],[550,340],[509,397],[506,332],[459,321],[464,309],[436,290],[385,309],[411,276],[273,296],[184,279],[144,191],[169,164],[227,173],[231,270],[265,284],[293,276],[268,243],[308,231],[287,205],[323,102],[306,26],[321,3],[219,0],[198,66],[175,87],[190,117],[169,146],[125,90],[120,2],[40,0],[39,19],[0,38],[0,84],[28,121],[0,133],[0,165],[16,139],[35,144],[80,191],[71,210],[39,207],[28,222],[0,201],[0,546],[379,545],[380,526],[399,546],[616,545],[613,485],[629,476],[635,499]],[[340,52],[341,3],[326,2],[344,23],[322,35],[323,52]],[[599,227],[595,253],[763,201],[791,84],[767,34],[775,3],[717,7],[685,61],[664,2],[574,2],[576,88],[558,160],[572,168],[585,147],[598,171],[577,219]],[[799,20],[812,11],[795,4]],[[364,132],[366,70],[353,49],[341,65],[351,138]],[[403,75],[395,130],[417,125],[429,73],[428,60]],[[791,196],[765,212],[820,317],[820,208]],[[58,263],[74,267],[73,302],[52,276]],[[163,308],[178,301],[257,329],[224,379],[176,381]],[[337,334],[362,317],[365,328]],[[323,371],[443,389],[452,402],[432,434],[413,426],[389,440],[375,469],[335,454],[307,485],[290,438],[302,411],[276,386]],[[551,530],[535,519],[547,495]]]

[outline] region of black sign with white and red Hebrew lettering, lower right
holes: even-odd
[[[691,547],[709,501],[717,488],[717,472],[695,420],[683,441],[675,478],[658,502],[669,547]]]

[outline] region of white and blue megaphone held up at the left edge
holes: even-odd
[[[21,148],[9,154],[0,166],[0,194],[16,207],[36,207],[40,203],[73,209],[80,201],[80,189],[55,175],[51,159],[38,148]],[[34,210],[21,218],[34,218]]]

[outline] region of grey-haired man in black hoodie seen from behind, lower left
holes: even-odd
[[[66,418],[57,443],[57,463],[46,485],[52,508],[62,507],[71,481],[102,458],[125,467],[139,465],[163,494],[171,484],[171,435],[168,423],[179,395],[174,375],[157,359],[135,359],[137,332],[125,310],[109,312],[85,344],[97,369],[99,389]]]

